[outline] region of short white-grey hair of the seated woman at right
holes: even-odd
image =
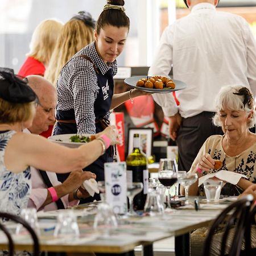
[[[250,108],[247,103],[244,106],[243,105],[244,96],[234,94],[234,93],[238,93],[238,91],[243,87],[245,86],[242,86],[242,85],[223,86],[215,98],[214,106],[215,106],[216,112],[224,109],[232,109],[236,111],[244,110],[249,115],[249,113],[253,111],[251,119],[247,123],[247,127],[251,128],[255,125],[255,122],[256,122],[256,112],[254,110],[254,106]],[[218,113],[214,115],[214,117],[212,118],[212,121],[214,125],[221,126],[220,117]]]

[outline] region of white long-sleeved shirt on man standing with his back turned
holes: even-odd
[[[214,112],[214,97],[225,85],[243,85],[256,94],[256,44],[249,24],[240,16],[218,12],[210,3],[195,5],[191,14],[168,26],[148,75],[168,75],[187,88],[154,94],[164,115],[187,118]]]

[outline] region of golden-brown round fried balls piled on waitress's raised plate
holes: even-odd
[[[175,89],[175,82],[165,76],[152,76],[138,80],[136,86],[150,89]]]

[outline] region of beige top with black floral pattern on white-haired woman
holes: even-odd
[[[194,160],[190,172],[195,172],[197,163],[199,163],[200,159],[205,154],[210,154],[214,160],[221,160],[222,167],[221,170],[237,172],[238,174],[243,174],[247,176],[248,180],[252,183],[256,183],[256,143],[251,147],[247,148],[247,150],[243,151],[240,155],[229,156],[226,155],[223,147],[222,141],[225,135],[213,135],[210,136],[200,148],[199,153]],[[218,170],[210,170],[209,173],[216,172]],[[204,172],[204,175],[207,174]],[[237,186],[236,186],[237,187]],[[238,187],[237,191],[241,192]],[[201,189],[200,189],[201,191]],[[223,193],[224,195],[224,193]],[[233,195],[233,192],[232,192]]]

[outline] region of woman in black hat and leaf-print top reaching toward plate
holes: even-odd
[[[81,170],[115,144],[117,134],[110,126],[94,141],[68,148],[46,138],[24,134],[32,124],[36,94],[11,69],[0,68],[0,211],[19,214],[27,207],[31,191],[30,166],[53,172]],[[106,142],[106,139],[108,141]],[[90,152],[90,154],[88,154]],[[46,161],[47,159],[47,161]],[[88,175],[81,171],[81,176]],[[96,176],[92,174],[92,177]],[[49,190],[57,198],[54,189]],[[8,205],[8,208],[7,208]]]

